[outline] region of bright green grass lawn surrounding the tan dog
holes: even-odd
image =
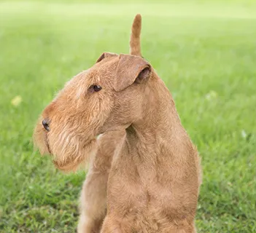
[[[34,123],[101,52],[128,52],[137,12],[143,55],[202,157],[198,232],[256,232],[256,4],[129,2],[0,2],[0,232],[75,231],[85,172],[40,157]]]

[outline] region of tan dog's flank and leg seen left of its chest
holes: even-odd
[[[98,149],[82,186],[78,233],[99,233],[106,216],[106,189],[112,157],[125,132],[108,132],[98,138]]]

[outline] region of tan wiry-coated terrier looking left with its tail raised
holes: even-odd
[[[166,85],[141,58],[140,31],[136,15],[130,55],[104,52],[58,93],[34,131],[61,170],[93,158],[79,233],[196,232],[198,153]]]

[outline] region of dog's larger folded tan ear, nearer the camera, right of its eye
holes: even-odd
[[[117,65],[114,89],[120,92],[134,82],[146,81],[150,74],[151,66],[146,60],[138,56],[121,54]]]

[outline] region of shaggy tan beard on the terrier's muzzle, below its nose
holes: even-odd
[[[82,133],[64,132],[51,130],[47,133],[39,122],[34,130],[34,145],[40,154],[53,156],[53,163],[59,170],[74,171],[95,153],[96,137],[89,135],[85,140]]]

